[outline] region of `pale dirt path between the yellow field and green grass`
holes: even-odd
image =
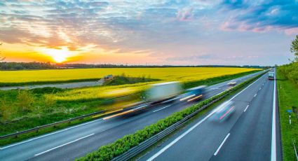
[[[76,88],[76,87],[91,87],[95,85],[102,85],[104,81],[88,81],[88,82],[76,82],[76,83],[59,83],[59,84],[46,84],[46,85],[24,85],[24,86],[15,86],[15,87],[0,87],[0,90],[16,90],[16,89],[34,89],[41,87],[59,87],[62,89],[67,88]]]

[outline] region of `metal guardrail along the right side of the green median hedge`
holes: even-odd
[[[266,72],[264,72],[264,73],[266,73]],[[261,73],[259,76],[262,76],[262,74],[264,74],[264,73]],[[250,82],[248,82],[248,83],[250,83]],[[192,118],[193,116],[195,116],[197,113],[199,113],[203,109],[206,109],[208,106],[211,106],[215,102],[218,102],[219,100],[221,100],[224,97],[226,97],[226,95],[230,94],[231,92],[233,92],[235,90],[238,90],[239,88],[243,87],[246,84],[247,83],[239,86],[238,88],[235,88],[235,89],[231,90],[230,92],[227,92],[226,94],[222,95],[222,97],[219,97],[218,99],[213,100],[209,104],[206,104],[205,106],[202,106],[200,109],[198,109],[194,113],[191,113],[189,116],[186,116],[185,118],[183,118],[182,120],[178,121],[177,123],[171,125],[170,127],[167,127],[165,130],[159,132],[158,134],[155,134],[153,137],[151,137],[151,138],[143,141],[139,145],[137,145],[137,146],[135,146],[133,148],[130,148],[130,150],[126,151],[122,155],[117,156],[116,158],[113,159],[113,161],[129,160],[130,158],[135,157],[137,154],[141,153],[145,149],[147,149],[150,146],[156,144],[158,141],[160,141],[164,137],[168,136],[168,134],[170,134],[170,133],[174,132],[175,130],[177,130],[178,128],[182,127],[182,125],[185,125],[187,123],[187,120],[189,120],[190,118]]]

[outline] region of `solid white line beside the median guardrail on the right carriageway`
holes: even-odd
[[[260,78],[262,78],[262,77],[263,76],[261,76]],[[250,85],[253,85],[254,83],[256,83],[260,78],[258,78],[257,80],[255,80],[255,82],[251,83]],[[248,85],[248,87],[250,87],[250,85]],[[235,97],[237,97],[239,94],[241,94],[243,91],[245,91],[246,89],[248,89],[248,87],[245,87],[243,90],[241,90],[241,92],[238,92],[236,95],[234,95],[233,97],[231,97],[231,99],[229,99],[229,101],[231,101],[232,99],[234,99]],[[168,144],[167,146],[163,147],[160,151],[158,151],[153,156],[151,156],[151,158],[149,158],[147,161],[151,161],[151,160],[154,160],[155,158],[157,158],[158,155],[161,155],[168,148],[170,148],[172,145],[174,145],[175,143],[177,143],[177,141],[179,141],[180,139],[182,139],[185,135],[189,134],[189,132],[191,132],[192,130],[194,130],[198,125],[200,125],[205,120],[207,120],[215,112],[216,111],[212,111],[211,113],[209,113],[208,116],[206,116],[205,118],[203,118],[202,120],[200,120],[198,123],[196,123],[196,125],[194,125],[191,128],[189,128],[189,130],[187,130],[186,132],[184,132],[183,134],[181,134],[179,137],[177,137],[175,140],[173,140],[172,142],[170,142],[170,144]]]

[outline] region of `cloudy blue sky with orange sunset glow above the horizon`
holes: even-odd
[[[1,1],[0,40],[7,61],[285,64],[297,10],[294,0]]]

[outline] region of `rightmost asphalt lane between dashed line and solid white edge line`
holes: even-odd
[[[273,85],[269,80],[259,90],[230,131],[229,141],[211,160],[271,160]]]

